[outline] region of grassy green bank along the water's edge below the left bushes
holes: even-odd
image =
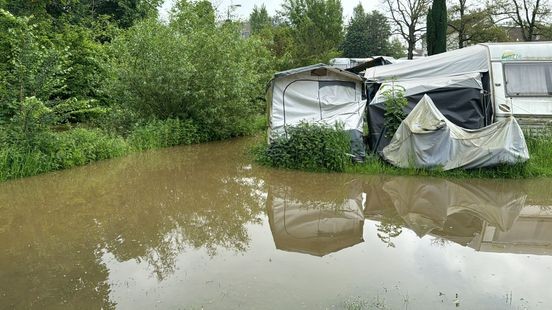
[[[254,131],[264,127],[264,119],[264,116],[258,117]],[[86,128],[47,130],[25,140],[9,139],[9,136],[0,137],[0,181],[82,166],[137,151],[212,140],[193,123],[179,119],[137,125],[126,137]]]

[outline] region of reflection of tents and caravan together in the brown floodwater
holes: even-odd
[[[552,253],[552,208],[527,204],[531,181],[371,177],[342,182],[319,175],[268,182],[276,248],[316,256],[339,251],[363,241],[366,217],[389,247],[409,229],[419,237],[433,236],[436,244],[454,242],[477,251]],[[313,190],[336,184],[340,191]]]

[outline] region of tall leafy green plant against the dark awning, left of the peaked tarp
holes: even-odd
[[[406,117],[404,108],[408,105],[408,100],[404,96],[404,88],[395,85],[394,81],[391,83],[391,88],[384,90],[382,94],[385,98],[385,136],[392,138]]]

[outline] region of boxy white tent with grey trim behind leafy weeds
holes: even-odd
[[[325,64],[276,73],[267,90],[269,139],[287,136],[286,128],[301,122],[341,123],[352,137],[354,155],[364,157],[362,90],[360,76]]]

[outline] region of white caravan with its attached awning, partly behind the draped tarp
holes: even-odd
[[[515,116],[520,124],[552,120],[552,43],[479,44],[366,70],[372,147],[381,133],[380,86],[404,83],[411,110],[427,93],[456,125],[477,129]],[[379,125],[378,125],[379,124]]]

